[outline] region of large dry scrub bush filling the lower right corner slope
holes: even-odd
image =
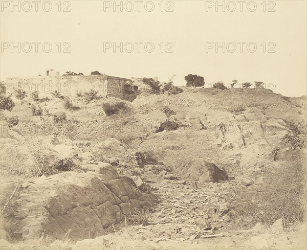
[[[288,223],[303,222],[306,219],[305,175],[302,160],[284,163],[270,181],[255,186],[245,197],[238,197],[242,201],[232,208],[234,218],[244,218],[253,225],[257,222],[272,225],[280,218]]]

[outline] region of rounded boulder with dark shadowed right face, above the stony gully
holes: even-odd
[[[225,170],[218,168],[214,163],[203,158],[190,160],[182,170],[188,178],[199,181],[217,182],[228,178]]]

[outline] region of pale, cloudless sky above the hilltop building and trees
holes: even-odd
[[[254,12],[249,11],[253,10],[253,4],[247,8],[252,1],[242,4],[242,12],[239,1],[219,1],[220,5],[225,3],[225,12],[222,7],[216,11],[215,6],[206,11],[206,5],[210,7],[215,1],[164,1],[162,12],[161,1],[152,1],[155,7],[152,12],[148,11],[152,7],[147,3],[150,1],[141,1],[140,12],[137,1],[122,2],[123,11],[119,7],[113,10],[114,1],[62,1],[60,12],[58,1],[51,1],[49,12],[42,9],[46,1],[38,4],[37,12],[33,1],[28,2],[32,7],[28,12],[25,10],[29,4],[23,1],[20,12],[17,7],[13,11],[11,6],[6,7],[11,1],[1,2],[2,81],[6,77],[37,76],[45,69],[54,69],[61,74],[73,71],[89,75],[91,71],[99,71],[124,78],[158,77],[160,81],[176,74],[174,84],[184,85],[186,75],[197,74],[207,83],[220,80],[229,83],[235,79],[262,81],[274,83],[276,93],[306,95],[307,2],[304,0],[267,1],[266,11],[264,4],[261,5],[264,1],[255,1]],[[19,1],[13,2],[17,5]],[[231,12],[233,3],[236,10]],[[112,6],[104,11],[109,5]],[[132,5],[134,10],[128,12]],[[49,5],[44,7],[48,10]],[[63,12],[65,7],[71,11]],[[173,11],[166,12],[167,8]],[[20,42],[20,53],[18,48],[13,52],[11,47],[6,48],[11,42],[17,47]],[[37,53],[33,42],[41,42]],[[49,53],[42,50],[41,44],[45,42],[52,45]],[[64,42],[71,44],[70,53],[63,53],[67,47]],[[122,53],[120,49],[114,53],[113,48],[104,51],[104,43],[113,42],[118,45],[123,42]],[[139,53],[136,42],[140,42]],[[145,51],[147,42],[155,46],[152,53]],[[237,48],[233,53],[227,48],[225,53],[222,48],[217,53],[215,48],[206,51],[208,42],[220,46],[225,42],[229,51],[233,50],[233,43]],[[242,53],[238,42],[245,42]],[[128,53],[130,43],[135,48]],[[147,51],[151,49],[150,43]],[[248,51],[247,43],[251,43],[250,51],[256,44],[254,53]],[[172,53],[165,53],[171,46]],[[45,50],[48,49],[47,44]],[[270,49],[275,53],[268,53]]]

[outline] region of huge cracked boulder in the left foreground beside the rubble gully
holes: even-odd
[[[18,232],[16,240],[39,239],[43,243],[61,240],[70,232],[68,238],[74,243],[87,238],[89,232],[91,237],[107,234],[113,223],[150,206],[150,196],[133,194],[128,179],[102,181],[99,176],[92,171],[69,171],[42,175],[32,184],[18,187],[4,211],[10,227],[5,230]]]

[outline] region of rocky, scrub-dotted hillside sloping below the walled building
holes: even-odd
[[[133,102],[13,97],[2,245],[304,247],[306,152],[283,138],[306,123],[306,98],[183,89]]]

